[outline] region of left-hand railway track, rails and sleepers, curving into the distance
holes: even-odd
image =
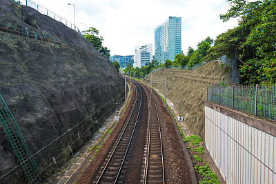
[[[135,85],[137,87],[135,105],[133,105],[126,126],[117,140],[117,144],[112,148],[112,153],[109,155],[105,167],[100,170],[100,174],[96,176],[97,181],[93,183],[117,183],[120,178],[121,170],[126,160],[126,154],[128,153],[141,112],[141,88],[136,83]]]

